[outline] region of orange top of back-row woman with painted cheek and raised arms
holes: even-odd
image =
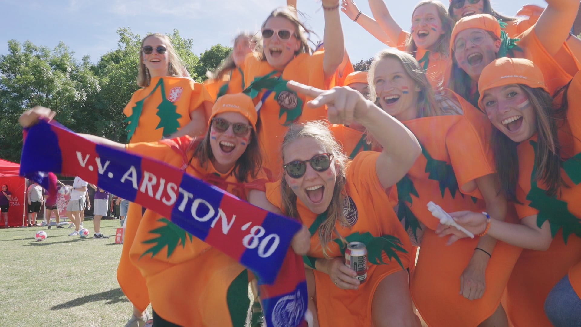
[[[406,51],[406,41],[410,33],[401,31],[397,39],[397,49]],[[426,49],[418,49],[413,54],[419,65],[424,68],[428,80],[432,87],[439,88],[447,85],[452,68],[452,58],[449,55],[442,55]]]

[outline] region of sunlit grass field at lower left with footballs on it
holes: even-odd
[[[0,229],[0,326],[125,325],[132,307],[116,278],[119,219],[101,221],[105,240],[92,238],[92,221],[83,225],[86,239],[55,226]],[[36,241],[38,230],[48,238]]]

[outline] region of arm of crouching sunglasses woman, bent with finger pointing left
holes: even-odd
[[[393,118],[361,93],[349,87],[333,87],[322,91],[290,81],[289,88],[314,99],[307,102],[311,108],[327,105],[329,122],[365,126],[382,145],[383,151],[376,162],[379,182],[386,189],[401,179],[421,153],[418,140],[399,120]]]

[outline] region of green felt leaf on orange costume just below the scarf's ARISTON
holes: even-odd
[[[160,226],[158,228],[152,229],[149,233],[152,234],[159,234],[159,236],[154,237],[153,239],[142,241],[144,244],[154,244],[149,250],[145,251],[144,255],[151,253],[151,257],[153,258],[159,251],[162,251],[164,247],[167,246],[167,258],[174,253],[175,248],[181,243],[182,248],[185,247],[185,242],[189,238],[189,241],[192,241],[192,234],[186,232],[184,229],[178,227],[173,222],[169,221],[167,218],[160,218],[157,219],[159,222],[163,222],[166,225]],[[139,257],[139,258],[141,258]]]

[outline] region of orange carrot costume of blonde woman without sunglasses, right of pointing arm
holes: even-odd
[[[426,225],[418,261],[411,274],[411,296],[429,326],[478,326],[500,303],[512,266],[521,248],[498,241],[486,268],[486,290],[482,298],[468,300],[460,291],[460,276],[468,266],[478,237],[446,246],[436,235],[439,220],[426,205],[433,201],[446,212],[483,211],[484,201],[473,184],[478,177],[495,172],[489,164],[486,125],[467,119],[476,109],[461,97],[464,115],[432,116],[403,122],[422,145],[422,156],[397,183],[398,216],[406,218],[406,229]],[[471,183],[472,182],[472,183]],[[459,187],[460,186],[460,187]],[[466,189],[461,194],[461,187]],[[476,197],[471,197],[471,195]]]

